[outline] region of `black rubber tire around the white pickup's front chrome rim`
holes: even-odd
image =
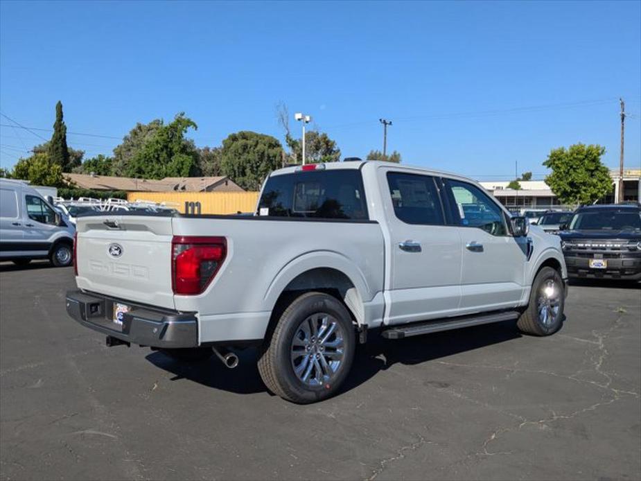
[[[547,301],[550,297],[545,294],[546,286],[554,286],[558,295],[559,310],[556,315],[552,316],[549,323],[543,322],[539,316],[539,300]],[[520,331],[532,335],[551,335],[561,329],[563,324],[563,308],[565,307],[565,286],[561,274],[553,268],[542,268],[536,274],[532,283],[532,291],[529,294],[529,304],[520,315],[516,325]],[[548,311],[549,312],[549,311]]]

